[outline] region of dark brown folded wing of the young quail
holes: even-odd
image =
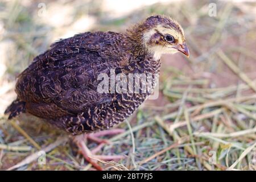
[[[20,74],[18,97],[26,102],[55,104],[71,113],[112,102],[114,94],[97,92],[101,81],[97,76],[109,76],[110,69],[121,69],[123,59],[129,59],[121,50],[122,36],[115,32],[88,32],[52,44]]]

